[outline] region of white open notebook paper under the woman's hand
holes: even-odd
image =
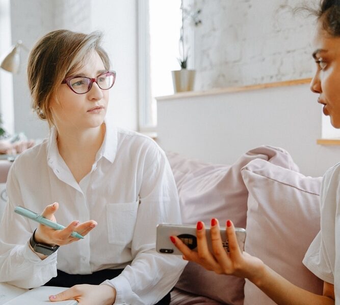
[[[66,300],[59,302],[50,302],[48,296],[51,294],[60,293],[67,288],[65,287],[53,287],[53,286],[41,286],[28,290],[19,296],[12,298],[11,300],[2,303],[3,305],[46,305],[47,303],[53,305],[76,305],[76,300]],[[1,303],[0,303],[1,304]]]

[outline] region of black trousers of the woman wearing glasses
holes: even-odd
[[[57,277],[49,280],[44,286],[72,287],[79,284],[99,285],[108,279],[118,277],[124,269],[104,269],[93,272],[91,275],[69,275],[57,270]],[[169,305],[170,292],[155,305]],[[130,304],[133,305],[133,304]]]

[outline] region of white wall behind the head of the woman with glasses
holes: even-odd
[[[38,38],[55,29],[85,33],[104,30],[104,47],[111,55],[113,69],[117,70],[108,117],[133,130],[137,129],[136,22],[135,0],[11,1],[12,43],[21,39],[30,49]],[[44,138],[48,134],[47,123],[31,111],[25,72],[28,53],[21,55],[21,71],[13,76],[14,130],[24,132],[29,138]]]

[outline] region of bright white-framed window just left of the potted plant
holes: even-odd
[[[139,129],[154,131],[155,97],[173,94],[179,70],[180,0],[142,0],[139,9]]]

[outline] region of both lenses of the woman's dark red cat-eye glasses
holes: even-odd
[[[113,73],[104,73],[96,78],[96,83],[100,89],[110,89],[114,82]],[[76,93],[86,93],[92,86],[92,80],[88,77],[74,77],[70,80],[70,85]]]

